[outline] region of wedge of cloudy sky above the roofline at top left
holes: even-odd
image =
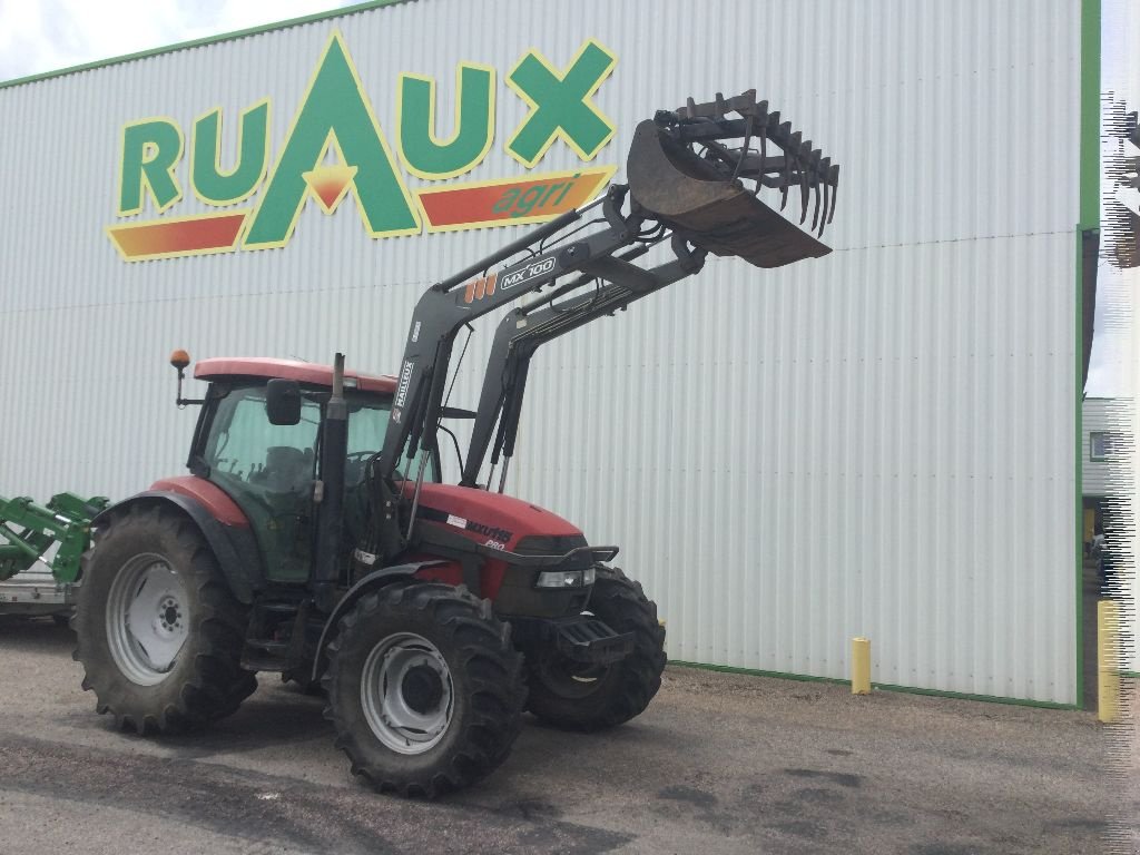
[[[0,0],[0,81],[350,5],[344,0]]]

